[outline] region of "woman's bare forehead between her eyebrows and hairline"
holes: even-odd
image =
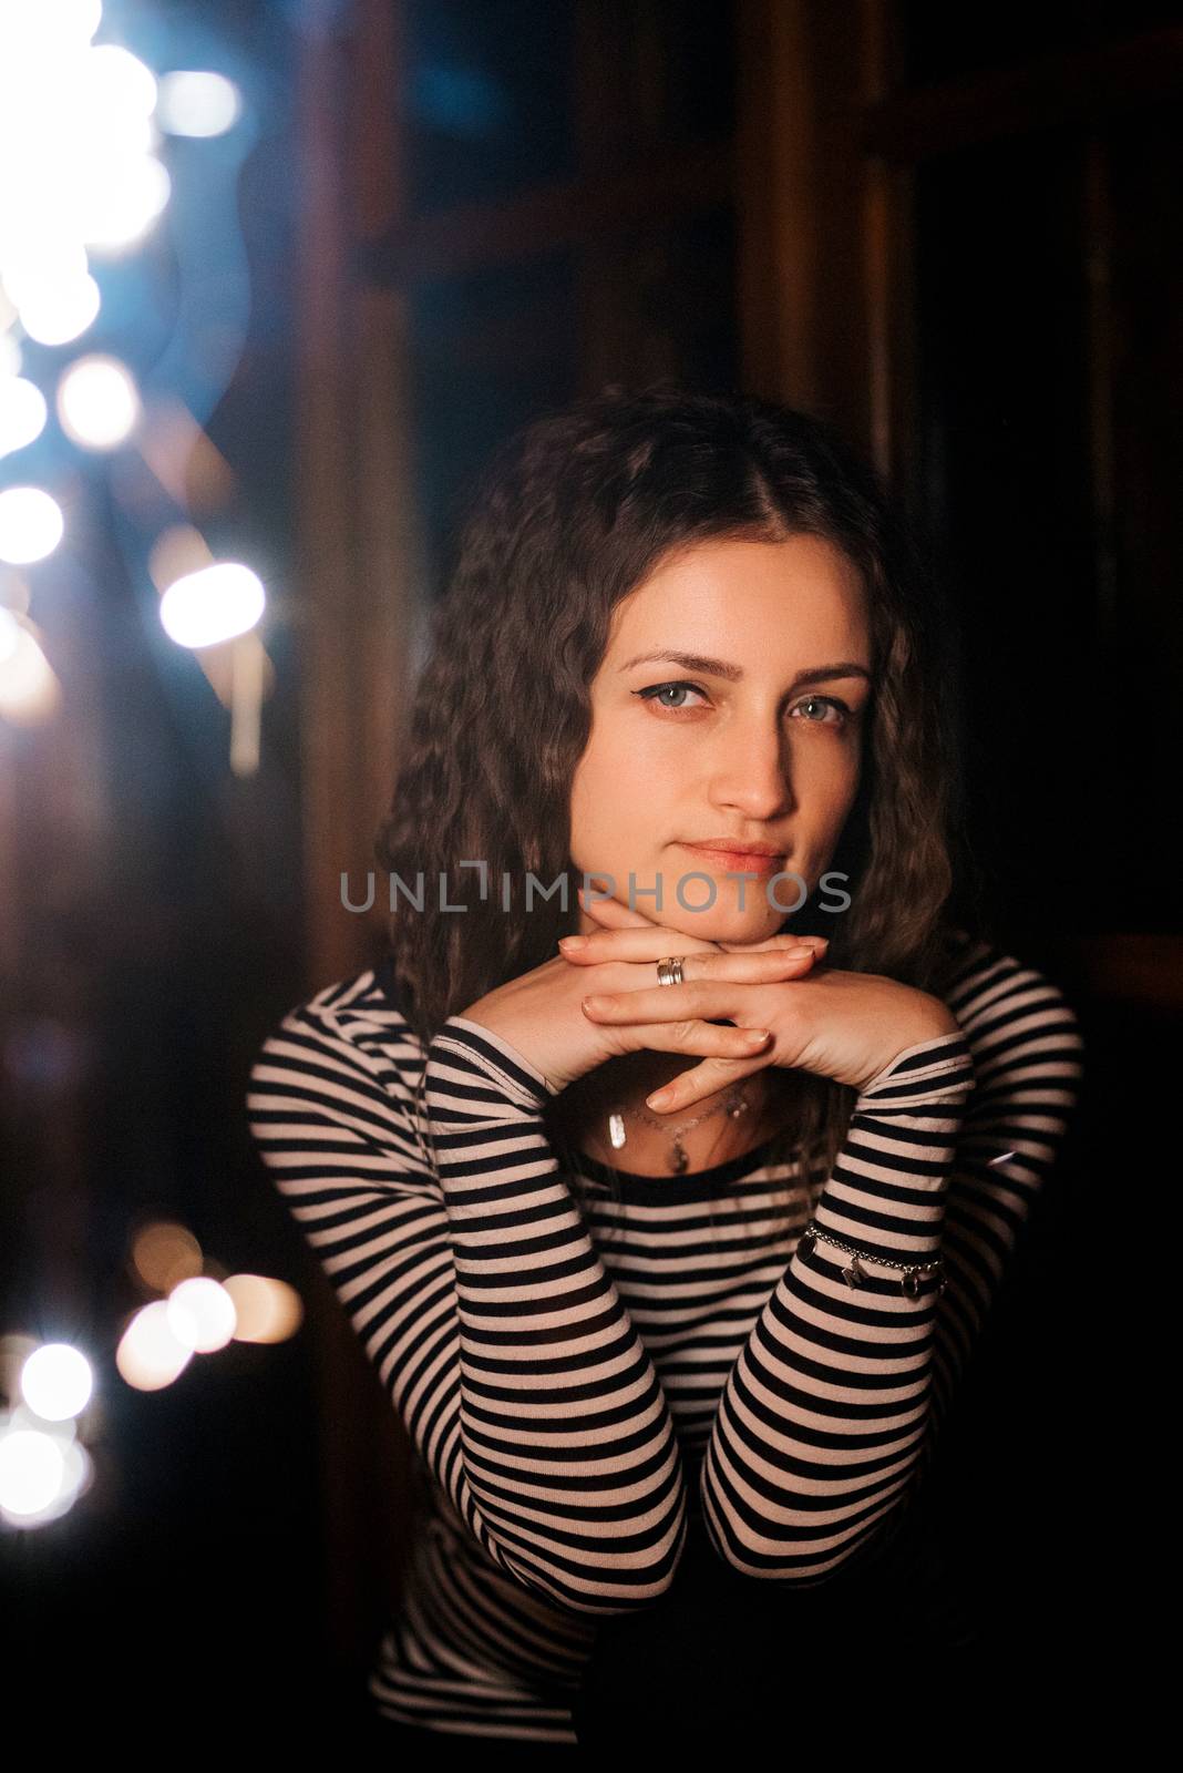
[[[862,574],[822,535],[696,543],[659,562],[613,612],[609,654],[652,645],[719,652],[756,667],[815,645],[868,649]],[[813,663],[806,660],[802,663]]]

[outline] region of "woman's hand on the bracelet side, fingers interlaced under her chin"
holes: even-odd
[[[615,899],[583,901],[600,926],[584,949],[565,954],[572,966],[613,959],[639,961],[639,927],[652,933],[652,959],[692,954],[682,931],[630,911]],[[620,933],[627,931],[622,943]],[[809,938],[804,938],[809,940]],[[627,954],[620,952],[627,947]],[[733,954],[749,945],[719,943]],[[751,949],[767,947],[751,943]],[[561,950],[560,950],[561,952]],[[687,968],[689,973],[689,968]],[[769,1028],[772,1039],[753,1058],[705,1058],[691,1066],[664,1090],[648,1097],[657,1113],[680,1113],[714,1096],[738,1078],[765,1066],[788,1066],[834,1078],[862,1090],[909,1046],[940,1034],[958,1034],[960,1023],[940,998],[900,984],[884,973],[854,973],[815,959],[802,979],[742,982],[731,979],[685,979],[680,986],[646,986],[595,996],[584,1014],[597,1023],[733,1021],[738,1028]]]

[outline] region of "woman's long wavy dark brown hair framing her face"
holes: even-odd
[[[671,550],[800,534],[829,539],[862,574],[875,688],[859,794],[831,862],[850,876],[850,908],[834,917],[815,892],[783,927],[827,934],[832,966],[939,989],[960,940],[955,885],[978,892],[951,612],[880,477],[829,424],[664,378],[611,385],[517,431],[457,530],[375,840],[391,876],[421,872],[466,906],[441,910],[432,886],[421,911],[391,915],[397,996],[425,1048],[450,1014],[553,959],[577,927],[570,787],[615,606]],[[482,894],[480,872],[460,867],[476,858],[494,883],[567,876],[567,897],[506,913],[501,892]],[[793,1080],[793,1124],[772,1147],[774,1163],[802,1160],[793,1218],[802,1197],[811,1211],[854,1101],[827,1078]]]

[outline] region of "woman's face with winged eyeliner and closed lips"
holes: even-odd
[[[854,805],[870,672],[862,580],[832,543],[668,557],[613,613],[572,782],[572,867],[622,904],[632,874],[636,908],[687,934],[767,940],[816,888]],[[712,840],[774,858],[694,847]],[[579,929],[595,927],[581,910]]]

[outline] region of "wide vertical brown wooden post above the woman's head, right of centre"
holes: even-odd
[[[910,183],[859,122],[898,71],[887,0],[738,0],[744,383],[818,413],[893,472],[907,434]]]

